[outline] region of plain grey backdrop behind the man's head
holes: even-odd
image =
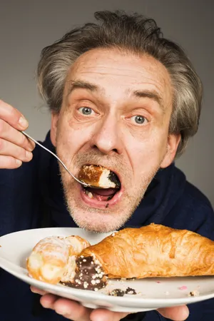
[[[124,9],[151,16],[164,35],[181,44],[192,59],[203,81],[203,113],[200,130],[177,165],[214,205],[212,0],[1,0],[1,99],[24,113],[30,123],[29,134],[44,139],[50,116],[37,94],[34,79],[40,51],[73,26],[93,21],[93,12],[102,9]]]

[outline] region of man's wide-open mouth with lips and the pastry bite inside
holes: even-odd
[[[95,207],[108,208],[117,203],[121,197],[121,182],[118,175],[98,165],[84,165],[78,179],[93,187],[83,187],[83,200]]]

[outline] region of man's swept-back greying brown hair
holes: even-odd
[[[118,48],[148,54],[163,63],[173,84],[173,112],[169,133],[180,133],[176,157],[198,131],[203,88],[183,49],[163,38],[156,21],[123,11],[98,11],[95,23],[73,29],[41,51],[37,70],[38,88],[51,111],[61,108],[63,88],[71,65],[91,49]]]

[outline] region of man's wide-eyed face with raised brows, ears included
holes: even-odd
[[[121,181],[111,200],[99,190],[90,198],[61,168],[68,210],[81,228],[121,227],[158,168],[173,161],[179,139],[168,135],[172,101],[168,71],[151,56],[96,49],[73,64],[61,112],[52,116],[51,140],[76,177],[82,165],[93,164]]]

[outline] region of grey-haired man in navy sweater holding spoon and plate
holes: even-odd
[[[56,151],[76,176],[84,164],[113,170],[121,190],[107,190],[108,195],[90,190],[89,198],[53,156],[34,149],[20,132],[28,126],[24,116],[1,101],[1,235],[44,226],[107,232],[154,222],[214,239],[208,199],[173,163],[198,130],[200,79],[155,21],[121,12],[95,16],[97,24],[73,29],[42,51],[38,86],[51,110],[44,146]],[[188,317],[187,307],[159,310],[161,314],[92,311],[31,288],[42,295],[41,305],[57,315],[42,309],[28,285],[3,270],[0,282],[4,321],[63,320],[60,315],[93,321]],[[213,300],[189,309],[190,321],[213,320]]]

